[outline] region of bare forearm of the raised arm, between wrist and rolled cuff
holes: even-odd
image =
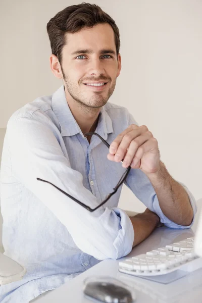
[[[181,184],[168,173],[165,165],[160,163],[160,170],[147,174],[153,185],[159,205],[164,215],[176,224],[188,226],[193,219],[193,210],[188,194]]]

